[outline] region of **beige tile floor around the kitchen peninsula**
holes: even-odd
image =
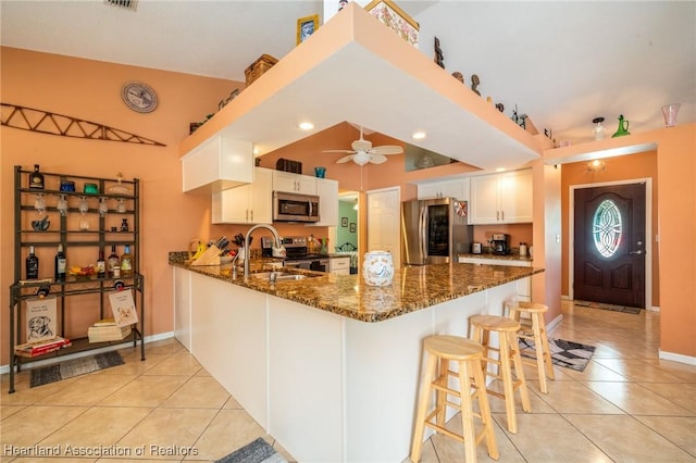
[[[548,395],[525,368],[532,412],[518,403],[517,435],[502,401],[490,399],[499,461],[695,462],[696,366],[658,359],[659,315],[569,302],[563,312],[549,335],[596,346],[595,355],[582,373],[556,367]],[[23,371],[13,395],[3,375],[0,461],[214,461],[257,437],[293,461],[176,340],[148,345],[145,362],[130,349],[122,354],[125,365],[37,388]],[[60,446],[62,458],[14,458],[8,446]],[[130,455],[78,454],[94,450]],[[485,446],[478,460],[490,461]],[[435,435],[422,461],[462,462],[463,448]]]

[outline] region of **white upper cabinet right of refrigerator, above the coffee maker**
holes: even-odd
[[[474,225],[532,222],[532,171],[472,177],[469,211]]]

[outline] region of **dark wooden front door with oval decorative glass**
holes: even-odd
[[[575,190],[577,300],[645,308],[645,183]]]

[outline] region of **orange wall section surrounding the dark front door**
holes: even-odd
[[[575,162],[561,166],[561,205],[562,205],[562,240],[570,242],[569,221],[570,221],[570,187],[574,185],[600,184],[605,182],[617,182],[633,178],[652,179],[652,235],[658,230],[658,185],[657,185],[657,152],[643,152],[632,155],[608,158],[606,168],[602,172],[587,172],[587,162]],[[652,246],[652,305],[659,306],[659,247]],[[561,292],[569,295],[569,255],[568,246],[562,247],[562,280]]]

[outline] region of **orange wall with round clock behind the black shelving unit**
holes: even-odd
[[[12,48],[1,48],[0,59],[2,102],[94,121],[166,145],[152,147],[87,140],[2,126],[2,306],[7,308],[10,298],[8,288],[14,280],[13,166],[22,165],[26,170],[36,163],[46,172],[108,178],[114,178],[122,172],[125,178],[138,177],[141,180],[140,265],[146,275],[146,334],[171,331],[172,271],[167,264],[167,253],[186,249],[194,236],[211,236],[210,222],[203,218],[201,212],[210,209],[210,198],[182,193],[178,143],[187,137],[188,124],[214,112],[217,102],[237,88],[239,83]],[[156,90],[159,107],[154,112],[139,114],[125,107],[121,100],[121,88],[130,80],[145,82]],[[50,251],[50,255],[40,256],[41,266],[52,268],[52,254]],[[70,262],[70,249],[67,258]],[[7,364],[9,312],[2,310],[1,314],[1,364]],[[71,318],[69,327],[80,329],[84,335],[82,328],[94,320],[78,318]],[[67,335],[72,336],[73,333]]]

